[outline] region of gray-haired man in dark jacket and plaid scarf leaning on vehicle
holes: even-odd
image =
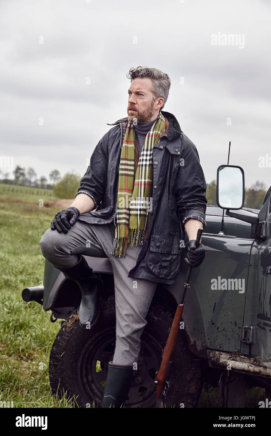
[[[99,320],[102,284],[82,255],[112,264],[116,347],[102,407],[120,407],[127,398],[157,283],[174,283],[179,273],[184,229],[187,264],[198,266],[205,255],[195,239],[206,226],[206,183],[196,147],[174,115],[161,110],[170,79],[147,67],[130,68],[128,77],[128,117],[111,124],[75,200],[40,241],[43,256],[80,286],[83,328]]]

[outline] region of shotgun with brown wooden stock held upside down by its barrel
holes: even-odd
[[[197,231],[196,248],[198,247],[199,242],[201,240],[202,231],[203,231],[202,228],[199,228]],[[176,349],[181,317],[182,317],[182,313],[184,310],[184,297],[185,297],[185,293],[186,293],[187,288],[190,288],[190,285],[188,284],[188,282],[190,279],[191,271],[192,271],[192,267],[189,266],[188,271],[187,271],[187,275],[185,277],[184,286],[183,286],[183,289],[181,291],[181,296],[180,296],[179,301],[178,301],[178,306],[177,306],[177,310],[176,310],[174,320],[173,320],[173,323],[171,326],[171,330],[170,330],[168,338],[167,338],[167,343],[164,347],[161,365],[160,365],[159,371],[157,372],[156,380],[154,381],[154,383],[156,384],[156,407],[157,408],[164,408],[164,397],[165,397],[165,395],[167,395],[167,391],[170,388],[170,383],[168,380],[169,380],[169,376],[170,376],[170,372],[171,372],[171,366],[173,363],[173,360],[171,359],[171,357],[173,356],[175,349]]]

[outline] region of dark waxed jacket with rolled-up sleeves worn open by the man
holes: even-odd
[[[181,131],[170,112],[161,111],[169,126],[153,148],[152,211],[147,237],[136,265],[128,276],[173,284],[181,263],[184,222],[193,217],[205,223],[206,182],[197,149]],[[88,194],[96,211],[85,212],[80,220],[107,224],[117,207],[118,170],[126,118],[112,127],[98,142],[77,194]]]

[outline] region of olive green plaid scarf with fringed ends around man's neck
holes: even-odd
[[[157,120],[146,135],[135,177],[134,126],[133,123],[128,123],[120,154],[117,207],[114,220],[116,230],[111,252],[113,256],[125,256],[127,242],[130,242],[130,247],[134,243],[135,245],[144,243],[149,213],[147,212],[149,204],[146,199],[150,198],[153,182],[152,149],[160,139],[164,123],[165,119],[160,111]]]

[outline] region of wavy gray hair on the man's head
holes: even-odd
[[[161,106],[160,110],[164,108],[164,105],[167,101],[169,89],[171,86],[171,80],[166,73],[163,73],[161,70],[157,70],[157,68],[148,68],[148,67],[137,67],[130,68],[127,73],[127,77],[134,80],[137,77],[149,77],[152,79],[152,92],[154,95],[154,100],[159,97],[163,97],[164,104]]]

